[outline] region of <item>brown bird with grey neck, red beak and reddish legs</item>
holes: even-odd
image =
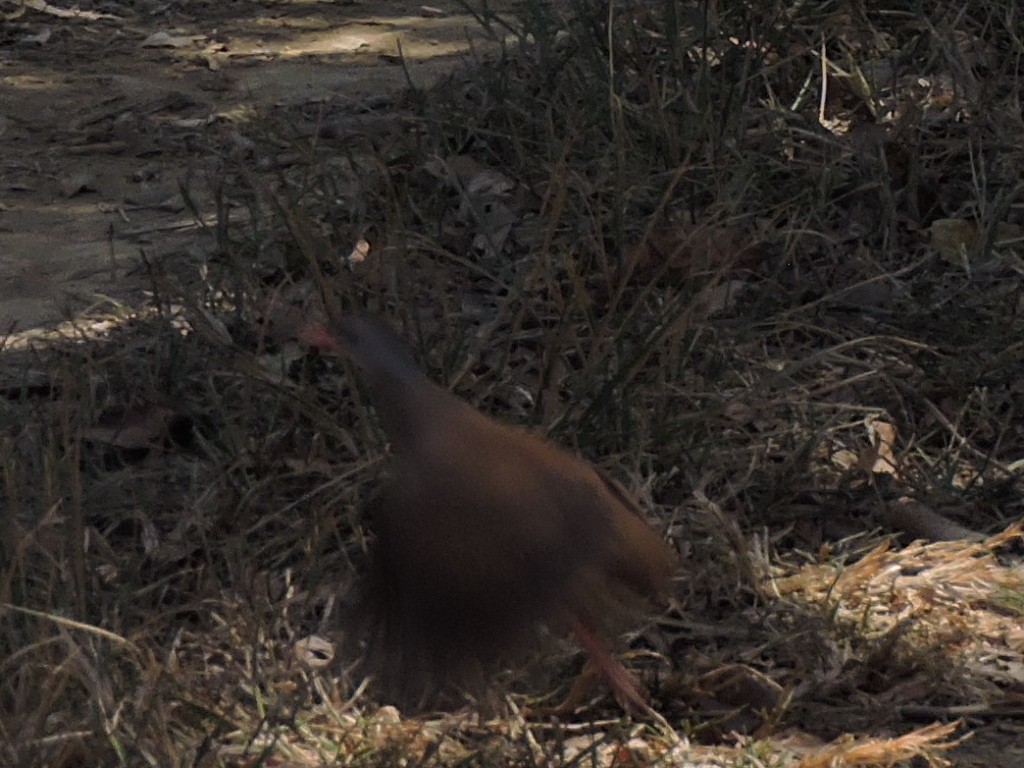
[[[605,637],[669,594],[675,554],[626,489],[431,381],[375,316],[300,335],[361,369],[390,445],[364,591],[385,689],[422,705],[452,681],[486,685],[546,626],[574,634],[622,706],[646,712],[644,687]]]

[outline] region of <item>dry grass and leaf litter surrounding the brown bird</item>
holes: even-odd
[[[504,52],[438,90],[198,133],[209,252],[7,339],[0,764],[971,765],[945,748],[1019,733],[1017,0],[612,6],[473,4]],[[524,718],[569,646],[490,720],[379,708],[310,646],[386,455],[293,338],[324,296],[635,489],[682,561],[630,638],[664,720]]]

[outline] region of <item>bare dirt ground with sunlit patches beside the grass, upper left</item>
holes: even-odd
[[[198,245],[179,182],[197,135],[297,103],[387,103],[484,45],[455,2],[0,3],[0,330],[134,302]],[[501,4],[492,3],[500,9]]]

